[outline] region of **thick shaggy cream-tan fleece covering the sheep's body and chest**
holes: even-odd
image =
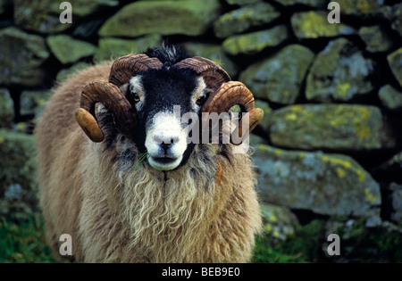
[[[153,169],[117,136],[92,143],[74,118],[82,87],[107,80],[111,62],[57,87],[36,129],[40,203],[54,255],[70,234],[84,262],[247,262],[261,216],[247,153],[196,145],[187,163]],[[119,157],[130,149],[132,158]],[[138,166],[138,167],[137,167]]]

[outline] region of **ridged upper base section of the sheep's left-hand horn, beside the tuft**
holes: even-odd
[[[138,72],[159,69],[163,66],[157,58],[150,58],[147,54],[129,54],[122,56],[112,64],[109,82],[121,87],[130,82],[130,78]]]

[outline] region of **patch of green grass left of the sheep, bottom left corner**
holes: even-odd
[[[0,219],[0,262],[56,262],[43,226],[39,214],[26,220]]]

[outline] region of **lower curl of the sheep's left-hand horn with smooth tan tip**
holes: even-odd
[[[130,136],[137,124],[136,113],[119,87],[105,81],[89,83],[82,89],[75,118],[87,136],[93,142],[102,142],[105,138],[95,119],[95,104],[99,102],[113,112],[114,122],[121,133]]]

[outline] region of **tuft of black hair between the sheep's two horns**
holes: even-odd
[[[148,48],[146,53],[149,57],[155,57],[165,66],[171,66],[177,62],[191,57],[180,45],[165,45],[160,48]]]

